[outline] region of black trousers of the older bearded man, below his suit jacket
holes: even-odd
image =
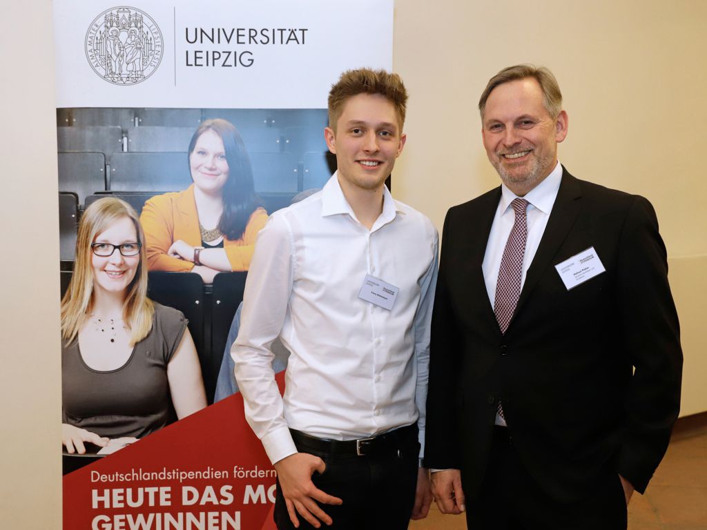
[[[495,428],[481,492],[466,504],[469,530],[626,530],[627,524],[617,473],[607,471],[576,502],[558,502],[527,473],[505,427]]]

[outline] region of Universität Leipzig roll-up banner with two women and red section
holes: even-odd
[[[267,215],[336,169],[329,88],[392,68],[393,2],[53,9],[64,529],[274,528],[229,355],[245,277]]]

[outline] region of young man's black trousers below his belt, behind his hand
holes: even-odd
[[[320,504],[334,521],[332,526],[322,524],[322,529],[407,529],[415,500],[420,444],[417,425],[395,432],[396,440],[386,444],[385,451],[361,457],[355,452],[332,454],[322,451],[320,444],[315,448],[306,440],[295,438],[299,452],[314,454],[327,464],[324,473],[314,473],[312,482],[325,493],[343,500],[339,506]],[[314,528],[299,514],[297,517],[300,529]],[[279,530],[294,528],[279,481],[274,519]]]

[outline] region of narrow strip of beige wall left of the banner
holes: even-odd
[[[49,1],[0,31],[0,528],[61,528],[59,228]]]

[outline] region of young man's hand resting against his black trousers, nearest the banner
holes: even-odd
[[[298,513],[315,528],[322,526],[320,521],[327,525],[332,524],[332,518],[315,501],[325,505],[340,505],[343,501],[339,497],[327,495],[312,483],[312,473],[324,473],[326,468],[322,459],[308,453],[291,454],[275,463],[287,512],[295,528],[300,526]]]

